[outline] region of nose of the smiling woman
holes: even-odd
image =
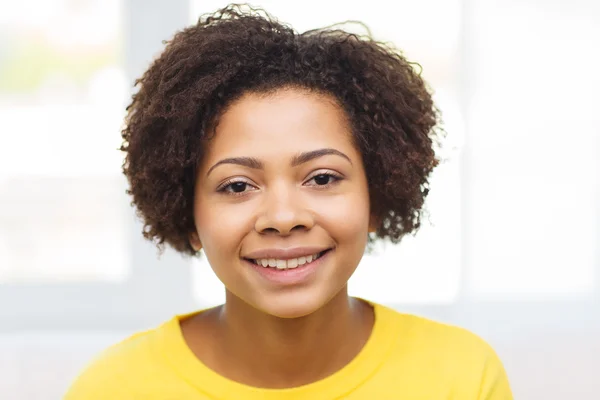
[[[262,209],[255,222],[258,233],[288,236],[293,231],[305,231],[313,227],[313,215],[301,198],[301,193],[295,188],[283,186],[278,185],[263,194]]]

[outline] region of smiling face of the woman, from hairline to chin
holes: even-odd
[[[298,89],[244,95],[208,142],[194,217],[190,242],[230,294],[282,318],[321,308],[346,289],[369,231],[344,111]]]

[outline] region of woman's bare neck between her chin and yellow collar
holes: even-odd
[[[346,289],[318,311],[292,319],[267,315],[227,293],[213,327],[218,354],[210,358],[217,372],[256,387],[296,387],[348,364],[371,333],[373,312]]]

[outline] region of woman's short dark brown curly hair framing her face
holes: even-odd
[[[420,226],[438,164],[439,112],[401,52],[340,29],[298,33],[263,10],[229,5],[175,34],[136,80],[122,131],[123,172],[144,237],[194,254],[196,172],[219,116],[244,93],[325,93],[345,110],[378,221],[394,243]]]

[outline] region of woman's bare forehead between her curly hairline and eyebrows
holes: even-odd
[[[269,157],[321,147],[354,148],[344,110],[330,96],[282,89],[234,102],[219,119],[206,155]]]

